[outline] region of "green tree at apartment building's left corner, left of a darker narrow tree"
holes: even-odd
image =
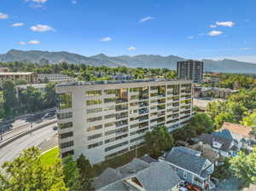
[[[68,155],[63,159],[63,173],[64,182],[70,191],[82,190],[81,183],[79,182],[79,169],[77,167],[77,163],[73,161],[72,155]]]

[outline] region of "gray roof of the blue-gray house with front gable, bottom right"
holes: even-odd
[[[191,171],[198,176],[202,176],[206,164],[211,165],[211,162],[200,155],[201,152],[190,148],[176,147],[172,148],[172,151],[167,154],[166,161],[187,171]]]

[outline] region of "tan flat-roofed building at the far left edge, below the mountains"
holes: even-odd
[[[25,80],[27,84],[35,83],[35,76],[32,72],[0,72],[0,84],[5,81]]]

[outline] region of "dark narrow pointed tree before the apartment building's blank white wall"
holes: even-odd
[[[93,171],[90,161],[84,157],[84,154],[80,154],[77,159],[77,166],[79,168],[80,182],[83,190],[92,190],[92,177]]]

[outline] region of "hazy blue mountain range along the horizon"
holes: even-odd
[[[1,62],[27,61],[37,63],[56,64],[62,61],[74,64],[86,64],[91,66],[107,67],[145,67],[145,68],[169,68],[176,70],[177,61],[185,58],[175,55],[119,55],[108,56],[104,54],[84,56],[65,51],[49,52],[40,50],[23,51],[11,49],[6,54],[0,55]],[[202,60],[204,71],[207,72],[231,72],[231,73],[256,73],[256,64],[224,59],[221,61]]]

